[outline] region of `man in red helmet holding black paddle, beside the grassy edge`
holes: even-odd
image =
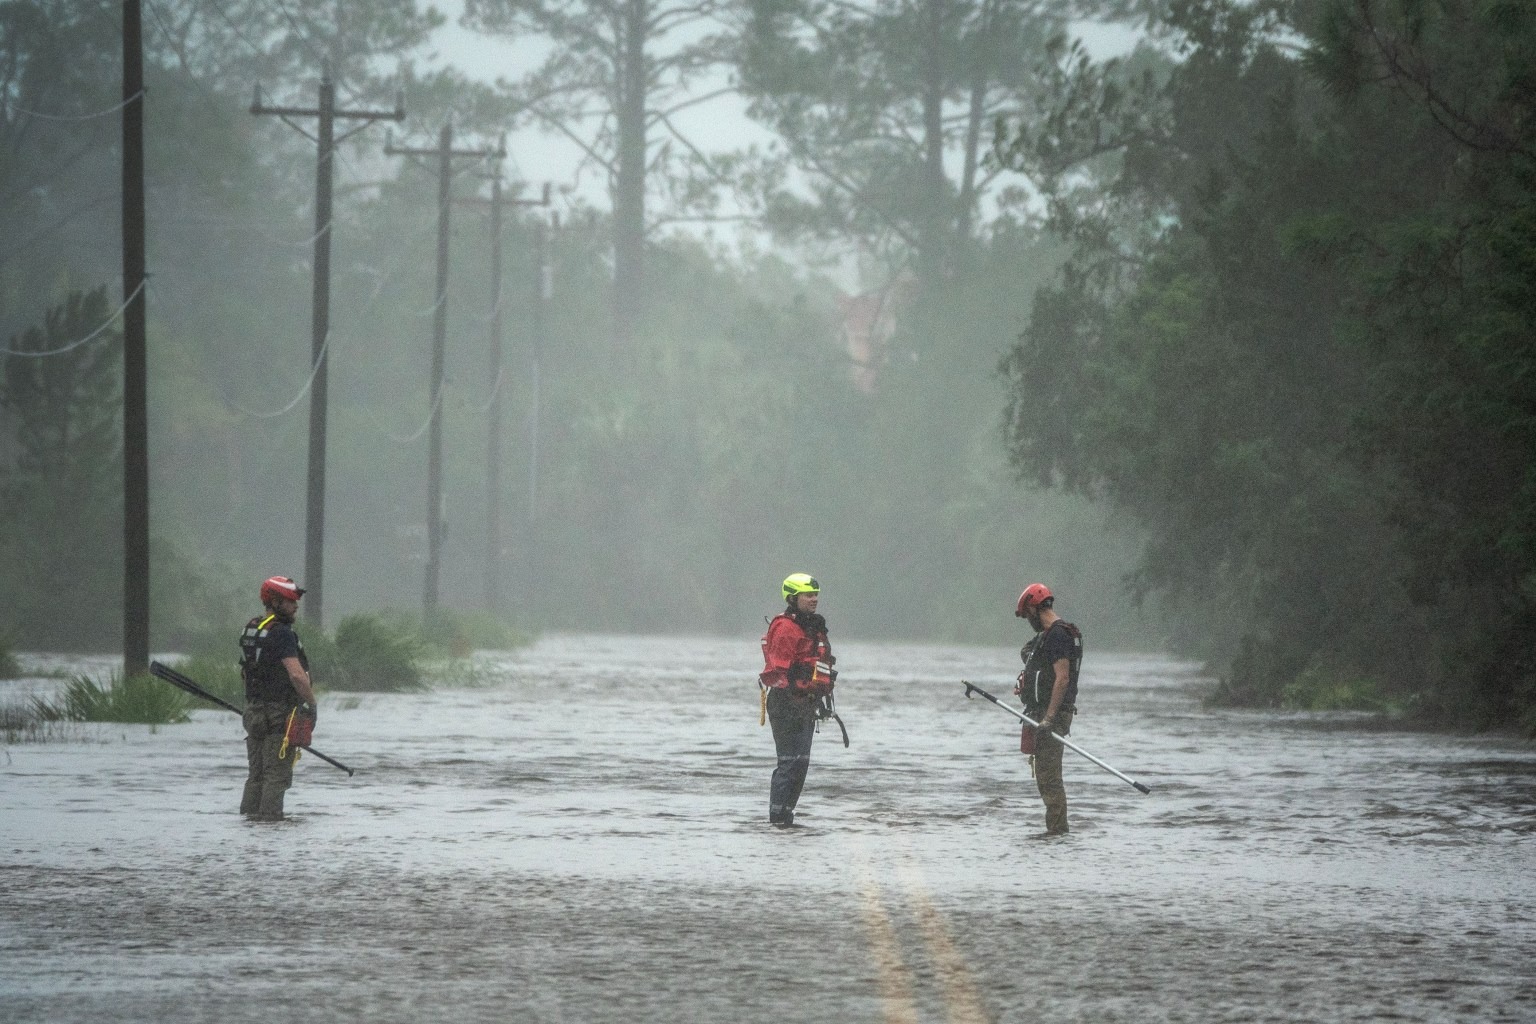
[[[267,577],[261,583],[261,605],[267,611],[247,622],[240,634],[246,760],[250,766],[240,812],[252,821],[283,820],[283,794],[293,785],[298,746],[309,743],[318,717],[309,657],[293,633],[303,596],[304,590],[287,576]],[[295,720],[298,729],[293,729]]]

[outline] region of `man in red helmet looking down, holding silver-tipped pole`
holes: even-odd
[[[1025,645],[1014,692],[1025,702],[1025,714],[1040,723],[1031,735],[1025,726],[1021,749],[1031,754],[1035,788],[1046,804],[1046,832],[1061,835],[1066,824],[1066,785],[1061,781],[1061,740],[1077,712],[1077,674],[1083,665],[1083,633],[1055,613],[1055,597],[1044,583],[1031,583],[1018,596],[1014,614],[1028,619],[1035,639]]]

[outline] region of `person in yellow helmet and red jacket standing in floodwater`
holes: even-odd
[[[780,593],[785,609],[768,623],[762,639],[763,671],[757,683],[762,717],[773,723],[779,752],[768,786],[768,821],[786,827],[794,824],[794,806],[811,768],[816,723],[833,709],[837,659],[826,639],[826,619],[816,611],[822,585],[806,573],[791,573]]]

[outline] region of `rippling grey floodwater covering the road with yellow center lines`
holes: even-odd
[[[754,637],[551,637],[323,695],[290,820],[235,715],[0,749],[0,1021],[1533,1021],[1536,748],[1204,711],[1089,654],[1072,834],[1017,652],[842,643],[802,827]],[[323,682],[323,680],[321,680]],[[41,683],[3,683],[0,699]]]

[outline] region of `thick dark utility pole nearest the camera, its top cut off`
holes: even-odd
[[[144,29],[123,0],[123,677],[149,671],[149,359],[144,302]]]

